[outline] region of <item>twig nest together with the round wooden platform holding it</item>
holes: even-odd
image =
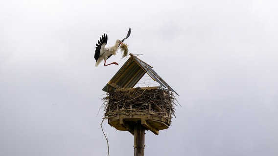
[[[103,98],[104,118],[120,131],[134,135],[134,127],[140,123],[145,130],[158,135],[160,130],[170,126],[175,108],[172,93],[157,88],[125,88],[110,92]]]

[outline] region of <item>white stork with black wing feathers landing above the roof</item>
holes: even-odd
[[[98,44],[97,43],[95,44],[96,45],[95,52],[94,52],[94,59],[96,61],[95,66],[98,66],[98,64],[102,60],[104,60],[104,66],[108,66],[111,64],[119,65],[116,62],[112,62],[110,64],[105,64],[105,63],[106,63],[106,60],[109,59],[112,55],[116,55],[116,51],[118,50],[119,45],[122,44],[122,42],[125,39],[127,39],[129,36],[130,36],[130,28],[127,33],[127,36],[124,39],[122,39],[122,40],[117,39],[115,45],[113,45],[111,47],[105,47],[107,44],[108,37],[107,37],[107,34],[102,35],[102,37],[97,41]]]

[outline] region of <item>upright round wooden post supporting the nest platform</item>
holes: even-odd
[[[138,121],[134,129],[134,156],[144,156],[145,128]]]

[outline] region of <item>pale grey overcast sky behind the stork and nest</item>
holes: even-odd
[[[276,0],[1,0],[0,156],[108,156],[95,43],[123,39],[180,95],[145,155],[278,155]],[[110,156],[134,138],[103,123]]]

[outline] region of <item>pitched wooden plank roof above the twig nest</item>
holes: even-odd
[[[146,73],[154,81],[157,81],[161,85],[160,87],[167,88],[169,91],[179,95],[153,70],[152,66],[138,59],[133,54],[130,54],[130,58],[102,90],[109,93],[120,88],[133,88]]]

